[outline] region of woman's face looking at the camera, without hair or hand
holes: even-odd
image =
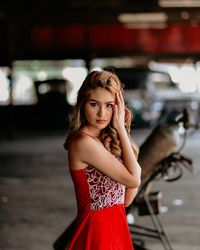
[[[87,125],[95,129],[106,128],[112,120],[115,96],[101,87],[92,89],[84,106]]]

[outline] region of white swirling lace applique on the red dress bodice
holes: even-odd
[[[124,203],[125,186],[93,167],[85,168],[91,198],[91,210]]]

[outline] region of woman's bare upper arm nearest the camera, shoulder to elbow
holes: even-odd
[[[125,165],[111,154],[101,142],[81,135],[69,148],[69,167],[80,169],[91,165],[113,180],[129,188],[139,186],[138,176],[130,174]]]

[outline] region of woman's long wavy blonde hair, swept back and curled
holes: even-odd
[[[64,148],[67,150],[73,136],[85,124],[84,105],[89,98],[90,90],[96,88],[104,88],[115,95],[118,91],[123,91],[123,85],[117,75],[109,71],[93,71],[83,81],[77,96],[76,105],[73,108],[70,117],[70,127],[64,143]],[[124,126],[130,137],[132,113],[125,107]],[[120,147],[120,140],[117,131],[112,125],[112,122],[102,131],[100,140],[104,147],[115,155],[118,159],[122,159],[122,151]],[[138,156],[138,147],[132,141],[132,148],[136,156]]]

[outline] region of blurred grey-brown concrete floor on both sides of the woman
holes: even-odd
[[[134,131],[140,145],[148,130]],[[52,243],[76,215],[73,185],[67,171],[64,133],[17,135],[0,142],[0,250],[51,250]],[[184,171],[172,183],[157,181],[168,212],[160,218],[174,250],[200,249],[200,132],[191,134],[183,152],[195,174]],[[176,204],[176,205],[175,205]],[[138,217],[150,225],[149,217]],[[158,241],[147,240],[152,250]]]

